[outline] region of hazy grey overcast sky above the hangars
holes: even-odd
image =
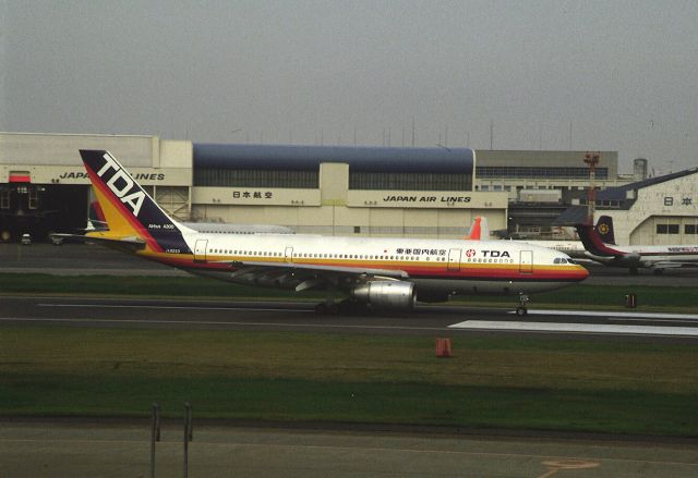
[[[698,1],[0,0],[0,131],[409,146],[413,123],[667,172],[698,166]]]

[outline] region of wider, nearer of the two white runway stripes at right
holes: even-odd
[[[597,323],[516,322],[466,320],[448,326],[452,329],[506,330],[517,332],[616,333],[639,335],[698,336],[698,327],[613,326]]]

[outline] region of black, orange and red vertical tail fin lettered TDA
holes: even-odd
[[[111,154],[81,149],[80,156],[109,226],[105,234],[140,237],[154,252],[190,253],[182,233],[194,231],[165,212]]]

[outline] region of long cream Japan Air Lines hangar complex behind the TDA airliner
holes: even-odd
[[[589,184],[583,151],[193,144],[157,136],[0,133],[0,235],[85,226],[77,149],[107,149],[181,220],[278,224],[299,233],[461,237],[550,231]],[[627,184],[603,151],[597,186]]]

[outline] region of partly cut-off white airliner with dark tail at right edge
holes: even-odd
[[[613,234],[613,220],[607,216],[604,218],[610,234]],[[638,268],[661,273],[664,269],[698,267],[698,244],[610,246],[591,225],[577,224],[576,228],[588,257],[605,266],[628,268],[631,274],[637,274]]]

